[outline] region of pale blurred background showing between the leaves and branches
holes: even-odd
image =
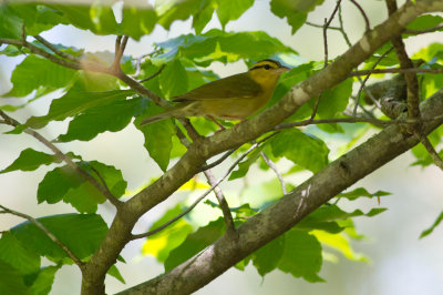
[[[324,1],[309,14],[308,20],[315,23],[323,23],[336,4],[336,1]],[[371,27],[377,26],[387,18],[383,1],[360,1],[364,8]],[[120,6],[122,3],[116,3]],[[401,4],[399,2],[399,4]],[[356,42],[364,31],[364,22],[358,10],[343,1],[344,27],[352,42]],[[332,22],[333,24],[333,22]],[[206,27],[220,28],[217,18]],[[323,59],[323,39],[321,29],[309,26],[302,27],[296,34],[291,35],[291,29],[285,20],[275,17],[269,11],[269,1],[256,0],[239,20],[229,22],[227,31],[266,31],[276,37],[285,44],[297,50],[302,58],[308,60]],[[161,42],[182,33],[190,32],[190,20],[177,21],[169,31],[156,27],[155,31],[142,38],[140,42],[130,40],[126,54],[134,57],[148,53],[154,42]],[[90,32],[80,31],[73,27],[55,27],[42,34],[49,41],[85,48],[87,51],[114,50],[114,38],[97,37]],[[443,33],[423,34],[406,40],[409,53],[413,53],[421,47],[432,42],[441,42]],[[341,54],[347,45],[338,32],[328,32],[329,58]],[[0,55],[0,93],[7,92],[11,84],[9,82],[11,71],[23,58],[7,58]],[[241,62],[224,65],[214,63],[212,69],[226,77],[246,70]],[[39,99],[25,109],[13,113],[13,118],[23,122],[30,115],[43,115],[48,112],[51,99],[60,93],[47,95]],[[3,103],[19,104],[19,99],[2,99]],[[64,133],[68,122],[53,122],[41,130],[41,133],[54,139]],[[0,125],[0,132],[7,129]],[[322,138],[331,150],[341,144],[337,139]],[[59,144],[62,151],[75,151],[85,160],[96,159],[106,164],[115,165],[122,170],[123,176],[128,182],[128,190],[136,190],[145,184],[151,177],[161,173],[157,165],[148,159],[143,148],[143,136],[135,128],[128,125],[117,133],[102,133],[91,142],[71,142]],[[45,151],[45,148],[27,135],[0,135],[0,169],[8,166],[18,157],[25,148]],[[131,151],[131,152],[128,152]],[[331,154],[331,159],[334,154]],[[260,277],[254,267],[248,266],[245,272],[229,269],[206,287],[195,294],[349,294],[349,295],[391,295],[391,294],[443,294],[443,226],[437,227],[434,233],[419,240],[420,233],[427,228],[443,210],[443,173],[431,166],[421,169],[411,166],[414,162],[410,152],[399,156],[382,169],[375,171],[356,184],[363,186],[370,192],[378,190],[391,192],[392,195],[383,197],[380,206],[389,210],[379,216],[356,218],[356,227],[359,233],[367,236],[365,240],[352,243],[354,250],[367,255],[370,263],[351,262],[340,257],[339,262],[323,262],[320,276],[326,283],[311,284],[291,275],[275,271],[265,278]],[[285,163],[282,163],[285,164]],[[280,165],[280,163],[279,163]],[[220,175],[227,164],[215,170]],[[13,210],[30,214],[34,217],[73,212],[68,204],[37,204],[37,187],[47,171],[52,167],[40,167],[35,172],[12,172],[0,175],[0,202]],[[254,167],[253,167],[254,169]],[[257,167],[256,167],[257,169]],[[250,174],[250,173],[249,173]],[[258,175],[258,176],[257,176]],[[254,181],[264,181],[269,174],[254,172]],[[274,175],[272,175],[274,176]],[[299,179],[288,179],[288,182],[298,183],[309,174],[301,174]],[[235,203],[241,185],[236,182],[224,183],[224,191],[228,195],[230,204]],[[138,222],[134,232],[145,231],[156,217],[177,202],[186,199],[186,194],[174,195],[155,211],[150,212]],[[347,210],[369,208],[379,206],[375,200],[359,200],[352,203],[342,202],[341,206]],[[235,205],[235,204],[234,204]],[[199,205],[198,207],[204,207]],[[114,214],[113,207],[104,204],[99,212],[111,222]],[[7,230],[22,220],[0,214],[0,231]],[[113,277],[106,278],[106,292],[112,294],[142,283],[163,272],[154,257],[143,256],[141,248],[144,241],[130,243],[122,255],[127,264],[119,264],[119,268],[126,279],[126,285]],[[63,266],[55,276],[51,294],[79,294],[80,272],[75,266]]]

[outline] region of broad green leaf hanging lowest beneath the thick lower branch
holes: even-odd
[[[318,276],[322,264],[321,245],[313,235],[291,230],[285,234],[285,250],[278,268],[308,282],[322,282]]]

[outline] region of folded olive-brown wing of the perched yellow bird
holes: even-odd
[[[175,102],[224,99],[251,99],[262,92],[261,87],[245,73],[216,80],[174,98]]]

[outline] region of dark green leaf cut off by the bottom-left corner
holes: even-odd
[[[29,294],[20,273],[2,261],[0,261],[0,294]]]

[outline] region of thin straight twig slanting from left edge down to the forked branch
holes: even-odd
[[[7,115],[3,111],[0,110],[0,116],[7,121],[7,123],[11,126],[19,126],[21,125],[17,120],[12,119],[11,116]],[[65,162],[70,167],[72,167],[74,171],[76,171],[79,174],[81,174],[86,181],[89,181],[92,185],[95,186],[95,189],[99,190],[114,206],[120,207],[122,202],[116,199],[109,190],[107,187],[101,185],[91,174],[89,174],[86,171],[81,169],[70,156],[64,154],[62,151],[59,150],[51,141],[47,140],[43,135],[41,135],[39,132],[27,128],[24,133],[33,136],[41,143],[43,143],[48,149],[50,149],[56,157]]]

